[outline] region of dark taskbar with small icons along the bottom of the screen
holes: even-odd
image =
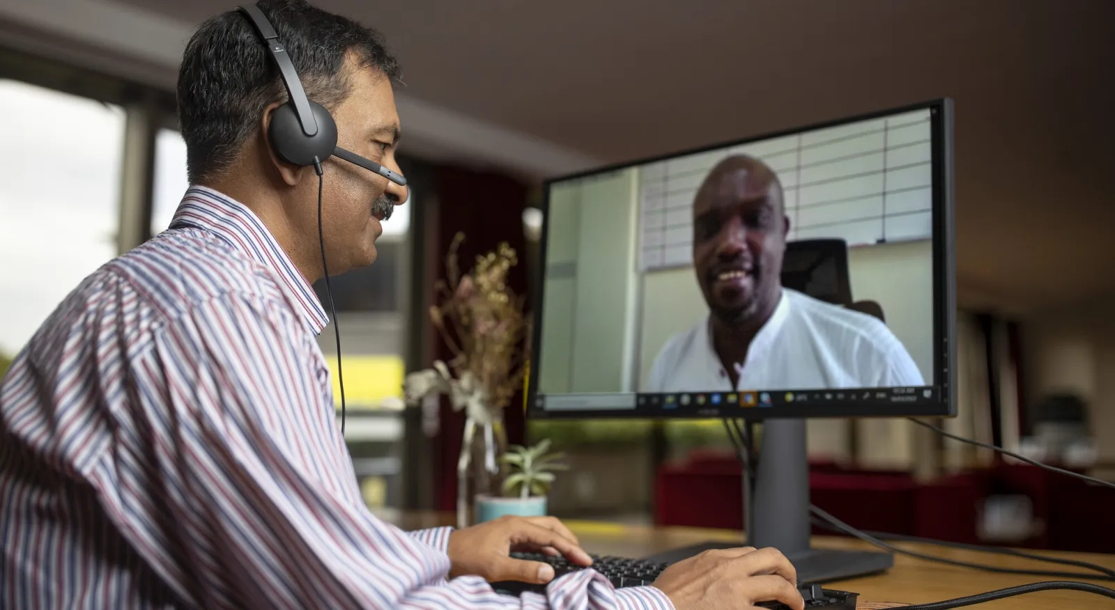
[[[941,402],[934,386],[863,387],[840,390],[740,390],[735,392],[580,393],[537,394],[534,410],[546,413],[628,413],[694,416],[730,416],[736,410],[825,405],[859,410],[894,405],[927,406]]]

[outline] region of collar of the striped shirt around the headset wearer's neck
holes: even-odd
[[[248,206],[211,188],[191,186],[171,220],[171,228],[181,226],[207,230],[275,272],[279,285],[288,293],[314,335],[329,324],[313,287]]]

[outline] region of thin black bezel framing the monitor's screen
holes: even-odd
[[[838,127],[851,122],[878,119],[890,115],[917,110],[931,111],[932,130],[932,226],[933,226],[933,338],[937,348],[933,353],[934,382],[933,387],[938,390],[932,401],[918,401],[914,403],[878,403],[864,404],[853,401],[823,401],[806,402],[803,404],[779,405],[764,409],[740,409],[727,410],[721,407],[723,413],[710,414],[710,410],[675,410],[671,412],[644,412],[642,410],[563,410],[546,411],[536,404],[539,370],[536,366],[542,343],[542,318],[543,303],[545,302],[545,268],[547,255],[547,223],[550,220],[550,191],[555,183],[600,176],[614,171],[629,169],[631,167],[652,164],[676,157],[697,155],[721,148],[736,147],[756,142],[759,140],[792,136],[803,131],[813,131],[830,127]],[[540,209],[542,211],[542,232],[539,237],[537,269],[539,273],[532,279],[534,284],[533,296],[533,318],[534,324],[531,333],[531,366],[527,375],[525,392],[526,416],[537,420],[586,420],[586,419],[640,419],[640,420],[683,420],[683,419],[718,419],[729,416],[765,420],[765,419],[799,419],[799,417],[901,417],[901,416],[935,416],[954,417],[957,415],[957,307],[956,307],[956,219],[953,209],[954,199],[954,166],[953,166],[953,102],[951,98],[942,97],[919,104],[899,106],[875,110],[862,115],[841,117],[822,122],[792,127],[748,136],[736,140],[726,140],[698,148],[656,155],[641,159],[634,159],[602,167],[555,176],[542,183],[542,199]],[[786,388],[755,388],[757,392],[777,391]],[[805,390],[805,388],[803,388]],[[798,390],[794,390],[798,391]],[[710,388],[707,393],[724,390]],[[631,394],[637,394],[632,392]],[[565,394],[562,394],[565,395]]]

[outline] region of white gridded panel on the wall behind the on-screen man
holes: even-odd
[[[750,155],[783,185],[789,239],[871,246],[932,237],[930,111],[841,125],[648,164],[640,171],[640,269],[692,263],[692,203],[720,159]]]

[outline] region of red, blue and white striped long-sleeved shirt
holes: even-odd
[[[206,188],[83,281],[0,383],[0,608],[671,608],[594,570],[522,598],[447,580],[450,529],[361,500],[327,323]]]

